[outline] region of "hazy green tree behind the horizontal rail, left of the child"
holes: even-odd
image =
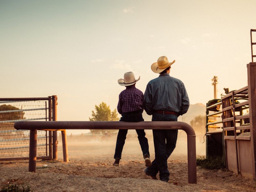
[[[107,106],[106,103],[102,102],[99,106],[95,105],[95,112],[92,111],[92,118],[89,117],[90,121],[118,121],[119,118],[117,117],[117,111],[114,109],[112,112]],[[112,129],[90,129],[92,133],[95,134],[104,134],[107,132],[107,134],[112,133],[116,130]]]

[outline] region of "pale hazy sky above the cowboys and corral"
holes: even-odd
[[[57,95],[59,121],[88,121],[102,101],[116,108],[125,72],[145,92],[158,76],[151,64],[165,55],[190,103],[206,104],[213,76],[219,98],[247,85],[255,8],[255,0],[0,0],[0,97]]]

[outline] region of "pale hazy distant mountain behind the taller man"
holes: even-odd
[[[188,108],[188,112],[182,116],[178,117],[178,121],[182,121],[185,123],[190,123],[190,121],[198,115],[205,116],[205,111],[206,111],[206,105],[202,103],[196,103],[194,105],[190,105]],[[144,121],[151,121],[152,116],[149,116],[145,111],[143,111],[143,118]]]

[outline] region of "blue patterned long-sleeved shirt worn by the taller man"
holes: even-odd
[[[148,115],[152,115],[153,110],[163,110],[180,116],[188,111],[189,99],[182,81],[163,73],[148,82],[143,105]]]

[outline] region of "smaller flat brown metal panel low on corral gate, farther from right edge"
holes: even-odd
[[[227,164],[230,171],[238,174],[236,164],[236,142],[235,140],[226,140],[227,146]]]

